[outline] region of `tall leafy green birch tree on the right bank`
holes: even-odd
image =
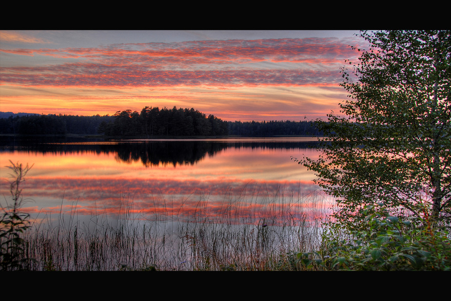
[[[342,69],[350,97],[343,116],[314,122],[325,135],[318,160],[295,160],[336,198],[334,218],[350,230],[366,226],[364,212],[376,203],[403,220],[426,214],[432,224],[450,223],[451,32],[360,36],[370,48],[349,62],[351,72]]]

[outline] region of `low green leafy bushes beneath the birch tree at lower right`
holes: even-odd
[[[374,212],[374,207],[364,212]],[[412,219],[418,221],[402,222],[377,208],[365,218],[367,231],[354,231],[351,239],[326,238],[330,257],[323,264],[340,270],[450,270],[449,233],[434,229],[429,219]]]

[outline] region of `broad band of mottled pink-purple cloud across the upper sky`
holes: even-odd
[[[268,39],[123,44],[104,48],[1,50],[16,55],[79,58],[77,63],[3,68],[1,83],[37,86],[265,85],[335,82],[328,65],[355,53],[337,39]],[[320,64],[312,68],[249,63]],[[335,68],[335,72],[338,71]]]

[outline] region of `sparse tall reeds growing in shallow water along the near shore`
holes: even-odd
[[[249,196],[230,193],[215,211],[209,195],[200,194],[196,214],[189,217],[136,213],[133,199],[125,196],[117,222],[107,213],[81,222],[74,208],[70,216],[60,213],[57,225],[50,218],[32,223],[23,236],[23,257],[35,261],[24,268],[295,270],[297,252],[319,249],[319,220],[327,206],[319,193],[287,196],[278,189],[272,196],[266,192],[258,204],[255,191]],[[163,197],[156,203],[168,207]]]

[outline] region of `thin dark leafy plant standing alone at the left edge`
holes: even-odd
[[[11,162],[11,161],[10,161]],[[23,203],[21,196],[22,189],[20,184],[25,181],[24,177],[33,166],[22,166],[14,164],[8,166],[13,171],[11,175],[14,181],[10,183],[10,192],[13,203],[1,207],[0,219],[0,270],[21,270],[23,264],[28,262],[28,258],[23,256],[23,238],[21,235],[30,226],[28,222],[28,213],[20,212],[20,206]]]

